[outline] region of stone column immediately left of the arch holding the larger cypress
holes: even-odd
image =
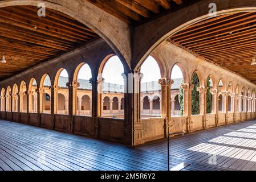
[[[192,133],[193,129],[193,121],[191,118],[192,115],[192,90],[194,88],[193,84],[182,84],[181,88],[184,90],[184,116],[186,119],[186,131],[188,133]]]

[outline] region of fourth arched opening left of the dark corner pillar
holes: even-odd
[[[51,79],[45,74],[40,81],[40,113],[51,113]]]

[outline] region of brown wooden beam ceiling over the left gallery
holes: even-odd
[[[98,37],[70,16],[47,9],[37,15],[34,6],[9,6],[0,11],[0,80],[25,71]]]

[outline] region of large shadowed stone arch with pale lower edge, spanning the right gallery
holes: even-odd
[[[212,18],[209,16],[209,4],[216,3],[217,16],[256,11],[256,1],[205,0],[166,14],[133,30],[133,69],[139,69],[141,63],[162,42],[178,31],[192,24]]]

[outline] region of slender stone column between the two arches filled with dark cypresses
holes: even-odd
[[[200,114],[203,115],[202,117],[202,126],[204,129],[208,129],[208,123],[206,119],[207,114],[207,100],[206,100],[206,93],[207,88],[205,86],[200,86],[197,88],[197,91],[200,93]]]

